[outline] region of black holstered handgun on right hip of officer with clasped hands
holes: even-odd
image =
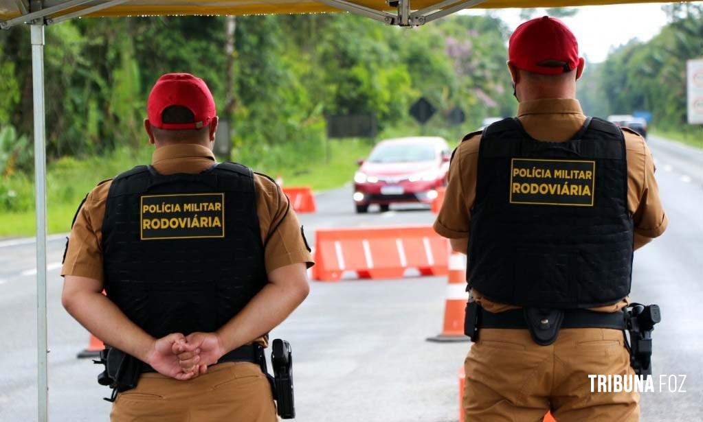
[[[271,349],[278,416],[282,419],[292,419],[295,418],[295,404],[293,402],[293,355],[290,343],[276,338]]]

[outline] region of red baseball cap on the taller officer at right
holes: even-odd
[[[524,22],[508,43],[508,60],[520,70],[561,74],[579,67],[579,43],[564,22],[549,16]]]

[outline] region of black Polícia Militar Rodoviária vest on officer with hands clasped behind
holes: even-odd
[[[108,298],[151,336],[219,329],[266,283],[252,171],[222,163],[198,174],[120,174],[103,256]]]

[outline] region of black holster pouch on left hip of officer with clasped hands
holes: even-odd
[[[105,370],[98,374],[98,384],[112,388],[110,398],[103,400],[114,402],[117,393],[136,387],[141,374],[141,363],[136,358],[116,348],[105,348],[100,352],[100,359],[94,364],[105,365]]]

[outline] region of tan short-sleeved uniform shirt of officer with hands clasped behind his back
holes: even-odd
[[[154,151],[152,165],[161,174],[200,173],[215,164],[212,151],[202,145],[180,144]],[[77,275],[103,280],[103,218],[105,200],[112,181],[96,186],[78,212],[63,263],[61,275]],[[313,265],[301,235],[295,211],[288,209],[288,197],[268,178],[254,174],[257,216],[262,242],[269,238],[264,250],[266,272],[295,263]],[[280,224],[278,224],[280,222]],[[275,230],[275,231],[271,231]],[[263,339],[259,339],[265,343]]]

